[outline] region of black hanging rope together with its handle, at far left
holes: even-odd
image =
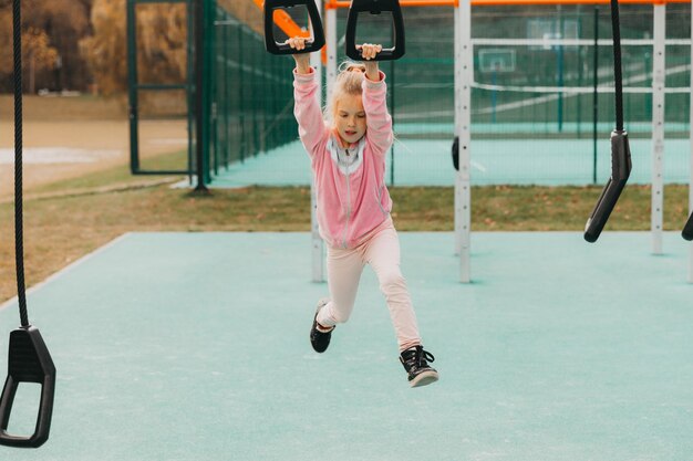
[[[10,333],[8,376],[0,395],[0,446],[38,448],[48,440],[55,395],[55,365],[39,333],[29,324],[24,289],[24,250],[22,224],[22,64],[21,64],[21,0],[12,2],[14,54],[14,249],[17,262],[17,294],[21,326]],[[33,434],[8,432],[17,389],[22,383],[41,385],[41,401]]]

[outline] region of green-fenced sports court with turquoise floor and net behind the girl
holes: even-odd
[[[237,177],[246,171],[255,175],[248,182],[308,184],[309,165],[292,114],[293,61],[268,54],[259,33],[216,3],[213,15],[214,33],[205,46],[211,53],[213,75],[210,178],[221,184],[226,171]],[[687,181],[689,176],[690,18],[690,4],[666,6],[665,180],[670,182]],[[387,179],[395,185],[452,185],[454,11],[406,8],[404,20],[406,55],[381,63],[397,139]],[[631,138],[642,140],[633,151],[634,177],[648,182],[641,166],[651,163],[653,8],[622,4],[621,22],[625,128]],[[345,23],[346,10],[339,10],[340,62]],[[472,36],[473,182],[603,181],[614,124],[613,93],[608,91],[613,86],[609,9],[475,7]],[[597,46],[594,38],[600,41]],[[364,23],[358,40],[389,43],[389,23],[383,25],[382,19]],[[600,88],[597,118],[594,78]],[[262,166],[250,165],[255,159],[262,159]],[[263,174],[258,175],[260,169]]]

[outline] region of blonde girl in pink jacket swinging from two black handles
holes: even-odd
[[[306,48],[306,39],[287,41]],[[317,99],[320,90],[308,53],[293,54],[294,115],[314,176],[320,235],[328,243],[330,298],[320,300],[310,331],[313,349],[323,353],[334,326],[349,319],[363,266],[370,264],[385,295],[400,346],[400,362],[412,387],[438,379],[428,366],[416,316],[400,271],[400,241],[392,223],[385,187],[385,154],[392,119],[385,105],[385,74],[371,61],[381,45],[360,46],[364,63],[346,63],[337,76],[328,106],[328,126]]]

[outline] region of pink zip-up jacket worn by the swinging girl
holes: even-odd
[[[293,114],[299,136],[311,159],[318,200],[320,235],[333,248],[355,248],[390,221],[392,200],[385,186],[385,155],[392,145],[392,118],[385,104],[385,74],[363,82],[365,136],[351,165],[339,161],[340,143],[325,125],[318,103],[316,73],[293,72]],[[343,151],[343,148],[341,148]]]

